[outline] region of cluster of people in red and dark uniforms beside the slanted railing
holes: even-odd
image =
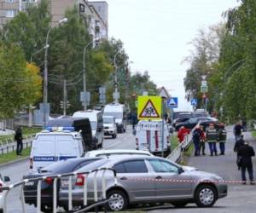
[[[218,127],[217,130],[214,124],[209,124],[207,131],[204,131],[202,125],[195,127],[192,138],[195,147],[195,156],[200,156],[201,154],[206,155],[206,142],[208,143],[211,156],[213,156],[213,153],[215,156],[218,155],[217,142],[219,143],[220,154],[224,155],[227,132],[224,128],[224,124],[219,124]],[[177,132],[178,141],[182,142],[185,135],[188,135],[189,132],[190,130],[181,127]]]

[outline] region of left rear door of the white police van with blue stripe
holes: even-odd
[[[38,135],[32,144],[33,171],[55,162],[55,135]]]

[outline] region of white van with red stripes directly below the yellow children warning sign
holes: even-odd
[[[137,150],[148,150],[154,155],[167,156],[171,153],[170,133],[164,124],[164,141],[162,142],[162,121],[140,121],[136,130]]]

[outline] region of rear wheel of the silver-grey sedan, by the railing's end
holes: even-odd
[[[113,190],[108,193],[108,199],[116,199],[108,202],[108,209],[113,211],[125,210],[128,205],[128,199],[125,193],[120,190]]]

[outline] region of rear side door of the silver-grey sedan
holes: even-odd
[[[130,194],[131,201],[154,198],[154,183],[149,181],[154,176],[148,172],[144,159],[123,161],[115,164],[113,169],[117,171],[119,183]]]

